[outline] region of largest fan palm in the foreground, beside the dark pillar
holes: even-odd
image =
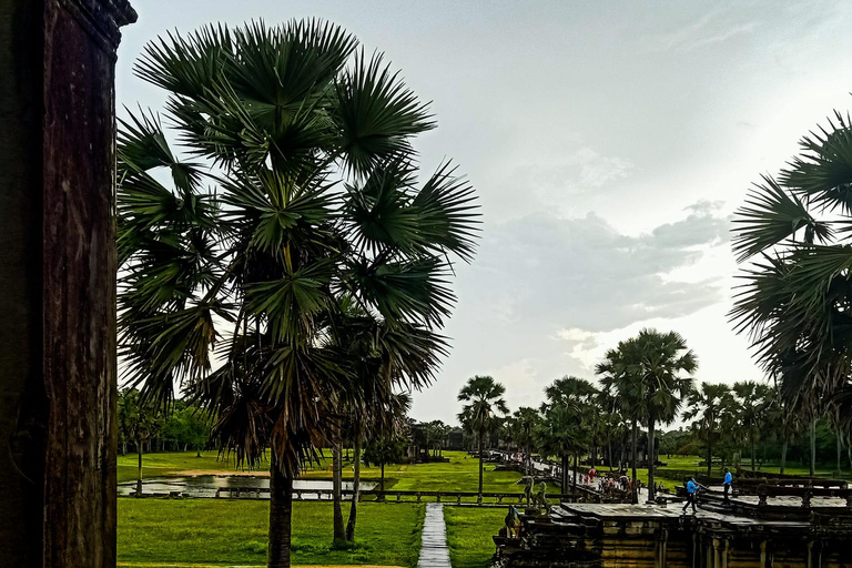
[[[140,112],[119,136],[126,378],[159,404],[182,383],[237,464],[271,450],[271,567],[290,566],[293,478],[364,388],[335,325],[344,298],[398,369],[382,389],[425,386],[454,303],[448,255],[469,261],[478,230],[452,166],[416,182],[426,105],[356,48],[318,21],[171,34],[135,72],[166,91],[176,135]]]

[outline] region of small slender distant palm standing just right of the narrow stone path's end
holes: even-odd
[[[458,415],[459,422],[467,424],[477,434],[479,445],[479,496],[483,501],[483,458],[485,457],[486,435],[494,428],[499,415],[508,414],[503,395],[506,387],[494,377],[476,375],[467,381],[458,393],[458,400],[468,403]]]

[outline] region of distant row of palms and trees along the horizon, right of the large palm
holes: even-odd
[[[818,463],[838,473],[846,462],[852,467],[852,445],[831,406],[793,406],[769,382],[696,385],[697,368],[680,335],[643,329],[607,352],[596,366],[599,381],[558,378],[538,408],[509,414],[503,385],[473,377],[459,394],[466,404],[458,418],[480,462],[489,448],[519,452],[529,475],[534,454],[557,458],[564,487],[576,484],[581,460],[630,468],[633,479],[643,467],[650,498],[660,455],[702,456],[707,475],[722,465],[760,470],[769,462],[781,474],[790,462],[803,464],[811,476]]]

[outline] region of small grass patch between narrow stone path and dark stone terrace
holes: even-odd
[[[491,537],[504,525],[507,509],[444,507],[453,568],[488,568],[495,545]]]

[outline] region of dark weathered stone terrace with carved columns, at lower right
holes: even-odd
[[[521,542],[498,545],[505,568],[787,568],[840,567],[850,561],[848,513],[793,520],[731,514],[708,507],[698,515],[642,505],[562,504],[550,523],[523,518]],[[642,528],[638,528],[641,526]]]

